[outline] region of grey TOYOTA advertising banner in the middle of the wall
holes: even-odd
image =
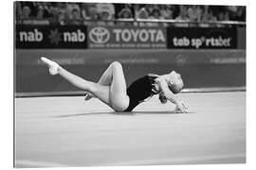
[[[88,26],[88,48],[166,48],[166,28],[153,26]]]

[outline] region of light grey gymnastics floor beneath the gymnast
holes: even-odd
[[[246,93],[182,93],[114,113],[82,96],[16,98],[16,167],[246,162]]]

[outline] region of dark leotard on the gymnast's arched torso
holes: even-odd
[[[128,88],[127,95],[130,97],[130,103],[126,110],[134,110],[137,105],[143,102],[146,98],[156,94],[155,90],[155,75],[146,75],[135,80]]]

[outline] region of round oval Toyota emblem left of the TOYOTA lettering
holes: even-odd
[[[90,30],[89,37],[92,42],[105,43],[108,42],[110,33],[104,27],[94,27]]]

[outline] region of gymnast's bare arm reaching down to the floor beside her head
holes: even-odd
[[[181,112],[187,112],[187,108],[181,100],[179,100],[172,91],[168,88],[168,84],[165,79],[159,79],[158,81],[161,91],[164,93],[166,98],[176,105],[176,109]]]

